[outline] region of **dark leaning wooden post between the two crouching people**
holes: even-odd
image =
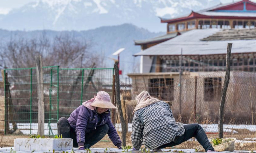
[[[121,120],[121,126],[122,126],[122,142],[123,142],[123,146],[126,146],[126,124],[125,124],[122,106],[121,106],[118,62],[115,62],[114,69],[115,69],[115,82],[116,82],[116,105],[118,108],[119,118]]]

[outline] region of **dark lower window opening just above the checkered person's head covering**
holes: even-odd
[[[173,96],[173,78],[155,78],[149,80],[148,92],[151,96],[171,101]]]

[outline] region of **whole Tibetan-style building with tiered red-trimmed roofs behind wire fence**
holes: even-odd
[[[154,97],[172,101],[173,112],[177,113],[180,107],[178,105],[180,88],[175,80],[179,80],[182,50],[182,78],[200,76],[200,80],[197,80],[197,88],[201,93],[200,96],[194,97],[194,90],[185,91],[184,88],[191,87],[195,83],[184,80],[181,85],[184,87],[182,104],[188,104],[194,98],[198,105],[211,101],[212,105],[207,105],[199,115],[207,117],[209,114],[216,114],[218,110],[211,112],[211,109],[219,107],[225,73],[211,74],[214,71],[225,70],[228,43],[233,43],[230,69],[254,71],[242,72],[242,75],[240,72],[232,72],[230,75],[232,84],[237,84],[239,81],[241,84],[244,83],[243,81],[255,84],[256,3],[242,0],[220,4],[202,11],[192,11],[184,17],[162,18],[161,22],[167,23],[166,35],[135,41],[135,45],[141,45],[141,52],[134,54],[140,56],[140,73],[128,74],[128,76],[132,78],[132,83],[144,86],[143,89],[134,88],[133,97],[136,96],[136,92],[148,90]],[[228,91],[231,97],[236,97],[227,100],[230,105],[236,101],[233,110],[241,109],[240,105],[245,102],[246,96],[248,97],[239,90],[240,86],[237,85],[237,90],[234,88]],[[256,87],[253,86],[250,92],[255,90]],[[184,114],[188,113],[185,109],[181,111]],[[243,111],[250,111],[250,108],[246,107]]]

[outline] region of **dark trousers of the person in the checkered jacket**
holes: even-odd
[[[204,147],[205,151],[213,149],[212,144],[209,142],[204,129],[199,124],[187,124],[184,125],[185,133],[181,136],[175,136],[174,140],[170,143],[164,144],[158,148],[172,147],[187,141],[188,139],[195,137],[196,140]]]

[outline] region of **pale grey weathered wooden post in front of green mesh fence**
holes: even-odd
[[[36,81],[38,95],[38,135],[44,135],[44,87],[41,56],[36,56]]]

